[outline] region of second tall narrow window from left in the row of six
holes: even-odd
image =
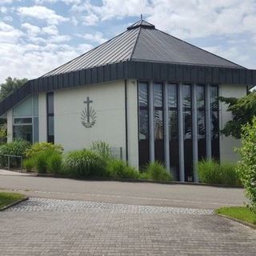
[[[164,162],[163,141],[163,88],[162,83],[154,83],[154,159]]]

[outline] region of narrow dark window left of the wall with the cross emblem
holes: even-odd
[[[54,93],[47,93],[47,141],[54,143]]]

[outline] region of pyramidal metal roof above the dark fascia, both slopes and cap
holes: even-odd
[[[59,66],[43,77],[125,61],[243,68],[140,20],[128,26],[122,34]]]

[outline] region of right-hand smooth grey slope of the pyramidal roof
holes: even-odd
[[[140,31],[131,59],[133,61],[242,68],[225,58],[174,38],[170,34],[147,28]]]

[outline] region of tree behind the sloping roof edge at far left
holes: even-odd
[[[12,94],[19,87],[23,86],[28,80],[26,78],[6,78],[6,82],[0,85],[0,102],[8,95]]]

